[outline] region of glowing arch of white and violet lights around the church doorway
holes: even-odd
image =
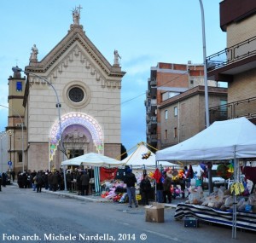
[[[72,124],[80,124],[87,128],[90,131],[97,152],[103,153],[103,132],[96,119],[85,113],[67,113],[61,117],[61,128],[59,122],[56,121],[49,131],[49,160],[53,160],[53,156],[61,140],[61,133]]]

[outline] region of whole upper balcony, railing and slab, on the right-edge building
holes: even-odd
[[[256,37],[207,57],[208,79],[231,82],[233,76],[256,67]]]

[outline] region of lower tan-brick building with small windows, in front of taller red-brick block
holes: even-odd
[[[210,107],[219,106],[226,101],[226,88],[208,87]],[[205,86],[195,86],[160,102],[158,114],[158,148],[167,148],[195,136],[206,128]]]

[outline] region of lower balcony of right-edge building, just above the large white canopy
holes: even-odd
[[[253,120],[256,119],[256,97],[230,102],[218,107],[211,107],[209,114],[211,124],[215,121],[239,117],[246,117],[253,122]]]

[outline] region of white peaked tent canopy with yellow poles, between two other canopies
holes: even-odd
[[[136,150],[131,153],[128,157],[122,160],[125,165],[130,165],[133,169],[143,169],[144,166],[146,169],[155,168],[155,154],[150,153],[148,159],[143,159],[143,154],[148,153],[148,148],[145,146],[144,142],[139,142],[137,144]],[[159,163],[162,166],[177,166],[168,161],[161,161]]]

